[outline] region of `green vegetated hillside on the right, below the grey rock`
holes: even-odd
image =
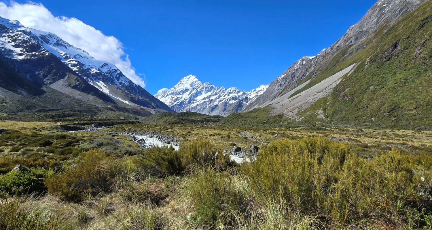
[[[330,97],[298,114],[304,117],[300,124],[432,128],[432,2],[427,1],[389,29],[384,28],[363,41],[365,48],[351,57],[347,55],[349,47],[342,49],[320,67],[320,75],[292,95],[357,63]],[[320,109],[326,119],[317,118],[316,111]]]

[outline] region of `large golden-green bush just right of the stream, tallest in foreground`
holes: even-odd
[[[293,207],[313,213],[337,182],[337,172],[347,152],[345,144],[322,138],[275,141],[265,146],[257,161],[245,165],[241,172],[249,177],[261,202],[282,195]]]

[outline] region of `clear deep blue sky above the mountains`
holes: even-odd
[[[189,74],[226,88],[269,84],[299,58],[333,44],[375,0],[34,2],[118,38],[155,94]]]

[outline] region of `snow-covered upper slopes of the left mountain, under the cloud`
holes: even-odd
[[[118,103],[152,109],[165,107],[170,110],[140,85],[124,76],[113,64],[95,60],[85,50],[74,47],[53,33],[28,28],[18,21],[2,17],[0,17],[0,54],[5,58],[23,62],[54,55],[77,76]],[[30,72],[32,73],[29,74],[29,79],[37,82],[44,81],[47,85],[54,83],[52,79],[41,79],[38,71]],[[59,74],[56,79],[67,77],[64,73],[61,76],[62,72]]]

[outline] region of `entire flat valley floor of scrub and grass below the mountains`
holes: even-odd
[[[92,123],[0,121],[0,229],[432,227],[432,131]]]

